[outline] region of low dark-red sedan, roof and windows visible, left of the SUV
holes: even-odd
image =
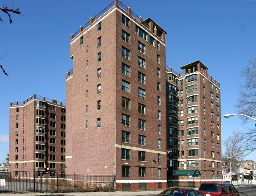
[[[185,188],[170,188],[158,194],[159,196],[203,196],[199,191]]]

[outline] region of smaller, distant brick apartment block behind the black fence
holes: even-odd
[[[9,170],[65,169],[65,106],[34,94],[10,103]]]

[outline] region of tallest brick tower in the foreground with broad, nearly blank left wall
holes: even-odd
[[[118,0],[71,34],[67,172],[166,182],[165,34]]]

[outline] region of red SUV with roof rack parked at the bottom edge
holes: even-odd
[[[198,191],[204,196],[239,196],[239,191],[230,183],[202,183]]]

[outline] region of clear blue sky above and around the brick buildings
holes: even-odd
[[[256,1],[243,0],[120,0],[142,16],[150,17],[166,32],[166,65],[174,71],[200,60],[221,87],[222,140],[242,125],[236,114],[239,72],[256,58]],[[15,1],[23,15],[12,14],[13,23],[0,12],[0,162],[8,153],[9,103],[25,101],[34,93],[65,102],[65,75],[72,68],[70,34],[84,26],[112,0]],[[2,1],[9,8],[13,0]],[[2,4],[1,4],[2,6]],[[223,153],[223,149],[222,149]],[[256,152],[245,159],[256,161]]]

